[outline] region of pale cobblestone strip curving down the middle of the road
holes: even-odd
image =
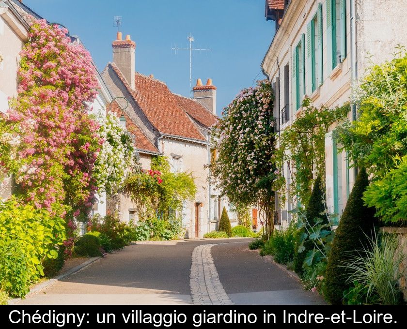
[[[189,277],[191,299],[195,305],[232,305],[219,280],[218,271],[211,255],[216,244],[202,244],[192,252]]]

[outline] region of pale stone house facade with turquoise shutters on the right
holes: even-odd
[[[261,66],[274,84],[278,130],[296,120],[305,96],[317,107],[350,101],[370,60],[390,59],[397,45],[407,45],[406,10],[402,0],[266,0],[266,19],[275,22],[276,33]],[[348,118],[356,111],[353,106]],[[336,126],[325,140],[326,189],[329,211],[341,215],[355,170],[332,139]],[[290,183],[288,169],[282,171]],[[279,207],[286,225],[293,205]]]

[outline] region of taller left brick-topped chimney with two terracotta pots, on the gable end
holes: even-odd
[[[128,84],[134,89],[136,73],[136,43],[130,35],[122,40],[122,32],[117,32],[117,38],[111,44],[113,47],[113,62],[125,76]]]

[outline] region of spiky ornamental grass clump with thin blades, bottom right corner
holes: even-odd
[[[348,260],[346,269],[350,275],[346,283],[359,283],[361,292],[365,292],[365,302],[376,297],[381,304],[399,304],[403,300],[398,282],[404,274],[400,269],[404,259],[406,256],[398,248],[396,235],[385,233],[381,241],[377,237],[369,239],[362,250],[355,250]]]

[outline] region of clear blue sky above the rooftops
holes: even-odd
[[[193,55],[192,80],[208,77],[218,87],[218,114],[239,90],[252,85],[274,35],[274,22],[266,22],[265,0],[24,0],[48,21],[78,34],[100,70],[112,60],[116,38],[113,16],[123,17],[123,35],[137,44],[136,70],[154,74],[172,92],[189,96],[189,32],[195,47],[209,53]],[[263,78],[260,75],[257,79]]]

